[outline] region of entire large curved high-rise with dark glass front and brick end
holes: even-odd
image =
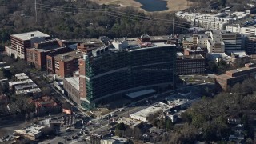
[[[79,60],[81,105],[91,109],[130,91],[175,85],[176,45],[114,40]]]

